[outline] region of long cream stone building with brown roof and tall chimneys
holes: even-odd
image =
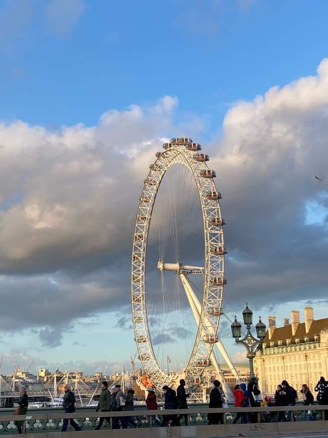
[[[269,316],[269,327],[262,348],[254,358],[254,372],[262,392],[273,394],[283,380],[301,390],[303,383],[313,391],[320,376],[328,378],[328,318],[313,319],[313,308],[305,307],[305,322],[299,311],[291,311],[282,327]]]

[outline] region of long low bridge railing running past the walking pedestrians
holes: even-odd
[[[28,411],[26,415],[2,415],[0,416],[0,433],[4,434],[12,434],[17,432],[17,426],[15,424],[16,421],[23,421],[23,429],[26,430],[26,433],[35,433],[35,432],[51,432],[51,431],[60,431],[62,427],[63,418],[74,418],[75,421],[79,424],[81,428],[84,430],[94,430],[99,423],[99,418],[107,417],[110,421],[110,428],[113,427],[113,418],[116,417],[120,419],[126,416],[132,416],[134,424],[138,427],[158,427],[153,422],[153,415],[156,416],[160,421],[162,420],[163,415],[172,416],[176,415],[188,415],[188,425],[189,426],[201,426],[207,424],[207,414],[209,413],[222,413],[223,414],[223,425],[229,427],[229,425],[233,423],[233,419],[237,412],[240,413],[257,413],[257,423],[266,423],[266,422],[275,422],[275,414],[278,414],[279,411],[293,411],[297,422],[303,419],[304,411],[307,412],[311,410],[315,413],[315,422],[325,423],[322,421],[324,419],[324,411],[328,411],[328,405],[326,406],[273,406],[273,407],[264,407],[264,408],[221,408],[221,409],[209,409],[205,407],[197,407],[191,409],[179,409],[179,410],[136,410],[136,411],[124,411],[124,412],[78,412],[78,410],[74,413],[54,413],[54,412],[45,412],[45,413],[37,413],[38,411]],[[273,416],[270,419],[268,415],[264,415],[267,413],[272,413]],[[181,420],[182,425],[184,425],[184,419]],[[293,422],[293,416],[291,416],[291,422]],[[106,426],[106,421],[104,421],[103,427]],[[278,423],[282,424],[282,423]],[[296,424],[296,423],[295,423]],[[304,423],[303,423],[304,424]],[[313,425],[313,422],[311,422]],[[72,430],[72,428],[70,427]]]

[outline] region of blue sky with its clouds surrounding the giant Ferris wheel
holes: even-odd
[[[327,316],[327,15],[323,0],[0,2],[0,353],[34,371],[128,364],[133,218],[176,133],[227,194],[230,317],[245,295],[264,320]]]

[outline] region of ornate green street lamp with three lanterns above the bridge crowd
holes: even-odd
[[[259,322],[256,324],[256,334],[259,339],[256,339],[251,333],[251,325],[253,324],[253,312],[249,309],[248,303],[246,303],[246,309],[242,312],[243,323],[247,328],[246,335],[239,340],[241,337],[241,324],[237,321],[237,317],[234,316],[234,321],[231,324],[232,337],[234,337],[237,344],[243,345],[247,350],[247,358],[250,361],[250,374],[254,377],[254,367],[253,359],[255,357],[255,351],[258,345],[265,338],[266,325],[261,321],[261,316],[259,317]]]

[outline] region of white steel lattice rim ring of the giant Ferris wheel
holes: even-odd
[[[173,138],[164,143],[162,153],[156,153],[156,161],[150,165],[140,197],[136,216],[131,269],[132,318],[139,359],[145,372],[157,388],[170,384],[170,377],[158,365],[151,343],[146,310],[145,268],[148,231],[156,194],[166,171],[174,165],[186,166],[195,179],[202,208],[205,241],[204,289],[202,310],[194,347],[185,369],[186,376],[199,376],[203,363],[209,362],[221,315],[224,279],[223,225],[219,199],[213,178],[205,161],[209,157],[199,154],[200,145],[189,138]],[[197,196],[197,194],[195,193]]]

